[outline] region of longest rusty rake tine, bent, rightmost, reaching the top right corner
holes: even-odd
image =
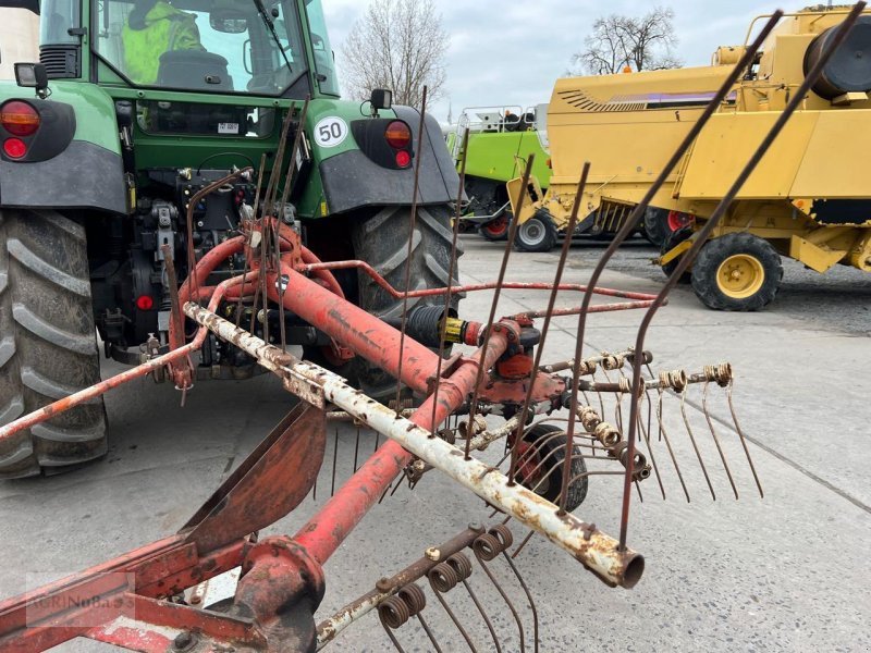
[[[660,309],[661,306],[665,303],[668,294],[672,292],[675,285],[677,285],[678,280],[680,276],[687,271],[689,264],[695,260],[698,256],[701,248],[704,246],[706,242],[710,237],[713,230],[720,222],[720,219],[723,214],[732,207],[732,202],[737,197],[738,192],[744,187],[747,180],[750,178],[750,175],[757,169],[759,163],[762,161],[762,158],[771,148],[774,140],[780,136],[783,128],[786,126],[786,123],[793,116],[793,113],[805,102],[805,98],[807,97],[808,93],[810,93],[811,87],[817,83],[817,81],[822,75],[825,66],[829,64],[829,61],[832,59],[832,56],[841,48],[841,45],[844,42],[844,39],[850,33],[850,29],[856,24],[856,21],[859,19],[859,15],[866,8],[866,2],[857,2],[850,13],[847,15],[846,20],[841,24],[837,32],[834,33],[832,44],[821,53],[820,59],[814,64],[813,69],[805,76],[805,79],[801,82],[801,85],[796,90],[793,98],[787,103],[786,108],[783,110],[783,113],[777,118],[772,128],[762,139],[757,150],[750,157],[750,160],[744,167],[741,172],[738,174],[737,178],[733,183],[732,187],[726,192],[723,199],[720,201],[717,207],[714,209],[711,217],[708,219],[708,222],[704,223],[701,230],[699,230],[698,235],[696,237],[696,242],[690,247],[689,251],[687,251],[680,259],[678,260],[677,267],[675,268],[672,276],[668,278],[668,281],[665,282],[665,286],[662,288],[660,294],[653,300],[653,304],[648,309],[647,313],[641,320],[641,325],[638,329],[638,336],[636,338],[636,350],[643,352],[645,348],[645,337],[647,336],[647,331],[650,328],[650,323],[653,321],[653,317],[657,315],[657,311]],[[783,15],[783,12],[775,12],[774,16],[772,16],[772,21],[776,17]],[[769,24],[771,25],[771,22]],[[773,25],[771,25],[773,27]],[[769,29],[766,25],[765,29]],[[763,29],[763,34],[765,32]],[[641,381],[641,364],[640,359],[636,358],[634,364],[633,370],[633,391],[637,392],[638,386],[640,385]],[[629,422],[629,438],[628,438],[628,453],[629,453],[629,460],[633,459],[635,454],[635,441],[636,441],[636,429],[634,420]],[[629,506],[631,501],[631,494],[629,493],[629,484],[631,483],[631,467],[626,470],[626,479],[623,485],[623,509],[621,516],[621,535],[619,535],[619,544],[622,547],[626,546],[626,535],[628,533],[629,528]]]

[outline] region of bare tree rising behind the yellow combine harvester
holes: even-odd
[[[673,69],[682,65],[672,54],[677,45],[674,11],[655,8],[641,17],[612,14],[593,23],[592,34],[584,39],[586,49],[573,57],[573,63],[593,75],[634,71]]]

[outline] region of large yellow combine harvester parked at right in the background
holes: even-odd
[[[787,14],[657,195],[654,206],[694,220],[663,247],[659,262],[666,272],[689,249],[846,13],[819,7]],[[548,116],[551,185],[542,197],[530,184],[529,194],[541,199],[530,199],[520,221],[550,220],[564,229],[586,160],[592,163],[580,208],[587,227],[625,220],[743,53],[741,46],[725,47],[707,67],[560,79]],[[869,91],[866,15],[695,261],[692,287],[707,306],[768,305],[783,275],[781,256],[818,272],[838,263],[871,272]],[[519,185],[510,183],[513,199]]]

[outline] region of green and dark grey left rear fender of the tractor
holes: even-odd
[[[51,91],[49,99],[38,100],[14,84],[0,86],[0,103],[20,99],[37,110],[41,107],[47,114],[72,115],[68,127],[74,131],[72,135],[51,134],[56,141],[60,139],[62,147],[40,150],[45,156],[22,160],[0,157],[0,207],[126,213],[127,193],[114,102],[101,88],[90,84],[54,81]],[[45,124],[42,128],[61,127]],[[38,138],[39,132],[34,136],[35,149]]]

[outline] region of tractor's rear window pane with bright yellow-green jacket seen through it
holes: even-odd
[[[98,53],[135,86],[281,96],[308,70],[293,0],[95,7]]]

